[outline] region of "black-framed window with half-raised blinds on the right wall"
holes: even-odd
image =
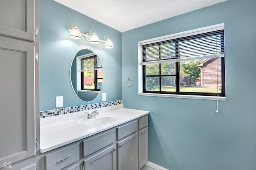
[[[225,97],[224,25],[139,44],[143,93]]]

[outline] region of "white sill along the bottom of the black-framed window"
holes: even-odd
[[[138,93],[139,96],[174,97],[183,99],[217,100],[217,96],[196,96],[196,95],[170,95],[156,93]],[[218,97],[218,101],[226,101],[226,97]]]

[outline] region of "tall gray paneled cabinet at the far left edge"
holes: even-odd
[[[39,4],[0,0],[0,168],[40,148]]]

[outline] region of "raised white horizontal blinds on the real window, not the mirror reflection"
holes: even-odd
[[[224,30],[142,45],[142,65],[224,57]]]

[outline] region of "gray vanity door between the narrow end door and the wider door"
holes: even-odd
[[[118,142],[118,170],[138,170],[138,133]]]

